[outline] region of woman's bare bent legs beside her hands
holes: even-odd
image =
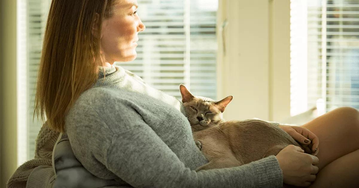
[[[353,179],[352,176],[359,174],[358,110],[341,107],[304,124],[303,127],[319,138],[317,157],[320,172],[313,187],[323,182],[338,183],[340,187],[343,187],[343,183],[352,185],[357,182],[356,185],[359,185],[359,179]],[[335,187],[335,184],[331,186]]]

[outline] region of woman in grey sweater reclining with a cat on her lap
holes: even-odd
[[[333,168],[341,169],[338,163],[356,162],[359,113],[341,108],[304,125],[312,132],[281,126],[309,144],[320,163],[291,145],[276,156],[240,167],[195,172],[208,161],[193,141],[181,103],[112,66],[136,58],[137,34],[145,29],[136,8],[136,0],[51,4],[36,113],[42,118],[46,114],[52,129],[67,133],[76,158],[90,173],[134,187],[281,187],[283,182],[307,186],[318,169],[314,184],[325,185],[322,181],[332,178]]]

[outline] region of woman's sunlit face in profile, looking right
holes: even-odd
[[[137,12],[137,0],[119,0],[111,18],[103,20],[101,49],[106,62],[132,61],[136,58],[138,33],[145,30]]]

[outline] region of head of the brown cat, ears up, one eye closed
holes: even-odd
[[[228,96],[220,101],[214,101],[206,97],[193,96],[182,84],[180,91],[187,119],[194,131],[220,124],[223,121],[225,107],[233,99],[233,96]]]

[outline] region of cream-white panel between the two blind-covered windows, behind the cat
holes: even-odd
[[[218,96],[234,97],[225,119],[280,121],[290,115],[289,11],[288,0],[220,0]]]

